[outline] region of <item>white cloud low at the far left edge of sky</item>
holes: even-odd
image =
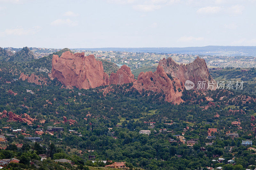
[[[41,27],[40,26],[35,26],[30,29],[24,29],[24,28],[14,28],[14,29],[5,29],[4,32],[0,32],[0,36],[4,35],[30,35],[30,34],[35,34],[38,31],[40,31]]]

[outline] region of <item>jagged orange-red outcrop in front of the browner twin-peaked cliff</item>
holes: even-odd
[[[138,76],[138,80],[133,83],[133,86],[139,92],[142,89],[145,91],[153,91],[165,94],[165,100],[179,104],[183,102],[180,98],[182,96],[183,87],[180,84],[180,80],[173,78],[171,80],[164,72],[164,68],[158,65],[155,72],[141,72]]]

